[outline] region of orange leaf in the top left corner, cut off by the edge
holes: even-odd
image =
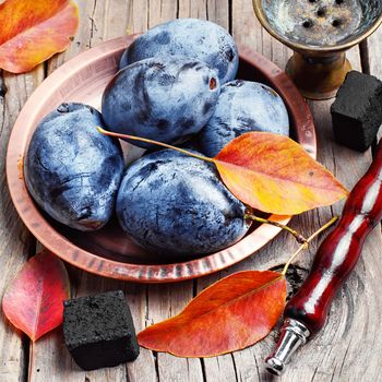
[[[0,69],[24,73],[67,49],[79,10],[70,0],[7,0],[0,25]]]

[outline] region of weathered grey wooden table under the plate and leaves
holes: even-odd
[[[238,43],[248,45],[284,68],[290,50],[273,39],[256,21],[251,0],[83,0],[81,25],[69,49],[34,71],[0,73],[0,279],[1,296],[17,270],[33,255],[38,243],[24,227],[10,200],[5,174],[5,148],[19,111],[45,76],[79,52],[127,32],[146,31],[176,17],[199,17],[227,28]],[[382,77],[382,29],[348,57],[357,70]],[[309,102],[314,115],[319,160],[351,189],[370,165],[372,154],[359,154],[333,141],[331,100]],[[342,203],[302,214],[291,226],[305,236],[342,211]],[[179,312],[198,291],[218,278],[240,270],[279,266],[296,249],[295,240],[279,235],[265,249],[217,274],[172,285],[139,285],[100,278],[68,266],[73,296],[122,289],[132,309],[136,330]],[[317,243],[296,262],[289,277],[299,284],[307,275]],[[382,361],[382,237],[377,227],[368,238],[362,258],[330,313],[325,330],[299,351],[280,381],[378,381]],[[92,372],[80,370],[67,351],[61,329],[36,344],[0,322],[0,381],[140,381],[232,382],[271,381],[263,360],[274,347],[277,332],[242,351],[208,359],[176,358],[142,349],[133,363]]]

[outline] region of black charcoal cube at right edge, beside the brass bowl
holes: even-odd
[[[365,152],[382,123],[382,82],[372,75],[350,71],[331,112],[336,142]]]

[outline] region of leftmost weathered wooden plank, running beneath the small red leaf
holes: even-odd
[[[22,224],[5,179],[5,154],[11,130],[21,108],[43,81],[44,68],[37,67],[28,74],[14,75],[0,71],[0,297],[23,263],[33,253],[35,239]],[[0,380],[20,381],[26,377],[28,339],[15,332],[1,312]]]

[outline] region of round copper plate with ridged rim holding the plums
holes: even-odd
[[[56,70],[35,91],[20,112],[7,153],[7,177],[13,203],[32,234],[64,261],[105,277],[133,282],[165,283],[200,277],[246,259],[273,239],[279,229],[259,226],[235,246],[220,252],[179,263],[157,259],[136,247],[114,220],[99,231],[85,234],[63,227],[36,207],[25,188],[21,165],[31,135],[39,120],[62,102],[82,102],[99,107],[104,87],[117,72],[119,58],[134,36],[98,45]],[[238,77],[261,81],[284,98],[295,139],[315,157],[312,116],[288,76],[261,55],[240,50]],[[131,147],[126,147],[132,152]],[[286,224],[290,217],[272,216]]]

